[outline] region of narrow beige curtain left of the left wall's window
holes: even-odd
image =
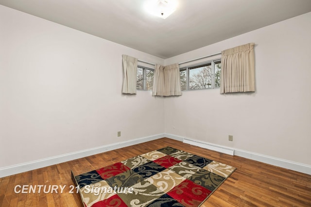
[[[122,55],[123,64],[123,94],[136,94],[137,79],[137,63],[138,59],[128,55]]]

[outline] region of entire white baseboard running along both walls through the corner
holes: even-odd
[[[178,135],[163,133],[163,134],[157,134],[153,136],[128,140],[128,141],[124,141],[120,143],[107,144],[107,145],[100,146],[100,147],[95,147],[91,149],[86,149],[86,150],[81,150],[81,151],[63,154],[59,156],[54,156],[54,157],[50,157],[46,159],[39,159],[39,160],[31,161],[31,162],[25,162],[25,163],[21,163],[17,165],[0,168],[0,177],[15,175],[17,173],[23,173],[23,172],[35,170],[38,168],[47,167],[53,164],[70,161],[73,159],[84,158],[90,155],[95,155],[98,153],[107,152],[110,150],[119,149],[119,148],[126,147],[126,146],[131,146],[131,145],[138,144],[138,143],[144,143],[144,142],[160,139],[162,137],[167,137],[173,140],[181,141],[184,143],[189,143],[191,145],[203,147],[203,148],[213,150],[216,152],[221,152],[221,153],[225,153],[228,155],[236,155],[236,156],[247,158],[247,159],[253,159],[259,162],[264,162],[267,164],[272,164],[278,167],[283,167],[286,169],[290,169],[290,170],[294,170],[300,173],[311,175],[310,165],[293,162],[293,161],[289,161],[285,159],[278,159],[278,158],[274,158],[274,157],[270,157],[266,155],[257,154],[254,152],[244,151],[241,149],[233,149],[233,148],[229,148],[229,147],[225,147],[225,146],[221,146],[217,144],[206,143],[206,142],[202,142],[198,140],[192,140],[192,139],[181,137]]]

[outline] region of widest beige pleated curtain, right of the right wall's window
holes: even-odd
[[[220,93],[255,91],[254,43],[222,51]]]

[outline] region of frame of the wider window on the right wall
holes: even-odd
[[[202,62],[202,63],[198,63],[198,64],[192,64],[192,65],[188,65],[188,66],[179,68],[179,73],[181,71],[186,70],[186,74],[187,74],[187,77],[186,77],[186,90],[182,90],[182,91],[195,91],[195,90],[206,90],[206,89],[217,89],[217,88],[220,88],[220,86],[219,87],[215,87],[215,64],[218,64],[216,62],[220,62],[221,63],[221,58],[217,58],[217,59],[214,59],[214,60],[210,60],[210,61],[206,61],[206,62]],[[210,87],[210,88],[190,89],[190,70],[198,68],[198,67],[204,67],[204,66],[207,66],[209,64],[211,66],[211,86],[212,87]]]

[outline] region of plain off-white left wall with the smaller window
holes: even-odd
[[[0,5],[0,168],[163,133],[163,98],[121,94],[122,54],[164,64]]]

